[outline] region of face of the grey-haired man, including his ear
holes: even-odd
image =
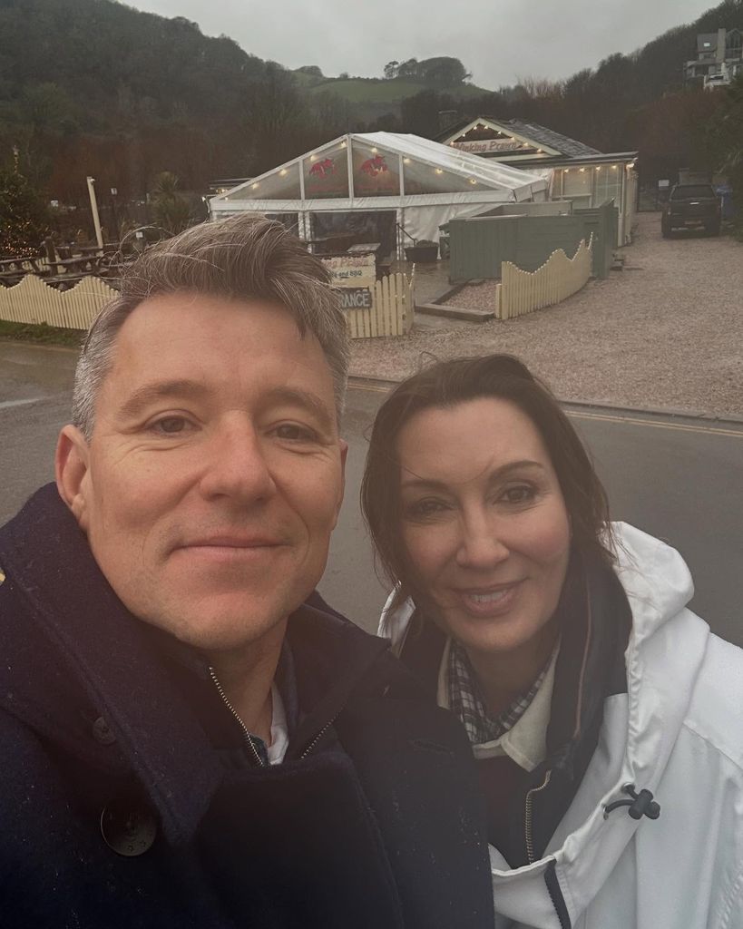
[[[137,617],[205,650],[276,631],[325,568],[343,499],[332,374],[261,301],[152,297],[122,327],[60,491]]]

